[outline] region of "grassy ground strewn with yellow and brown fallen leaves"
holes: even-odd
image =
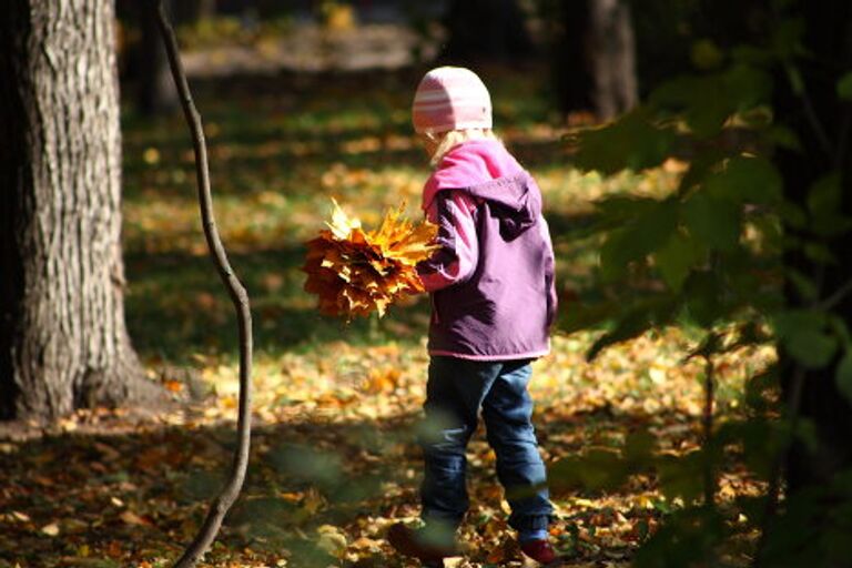
[[[596,284],[597,243],[579,236],[591,201],[611,192],[665,193],[682,169],[672,163],[643,178],[606,181],[578,175],[546,91],[516,81],[516,73],[491,70],[486,81],[500,134],[545,193],[562,310],[617,297]],[[219,223],[252,296],[256,331],[248,478],[204,566],[412,566],[383,536],[392,523],[417,515],[414,437],[427,302],[344,325],[317,314],[298,267],[332,196],[367,224],[402,201],[417,214],[428,171],[407,109],[418,75],[197,85]],[[3,568],[169,566],[230,466],[236,343],[196,221],[190,144],[178,116],[128,113],[124,129],[128,321],[151,378],[179,404],[156,416],[101,409],[7,433],[0,440]],[[552,355],[535,364],[535,420],[548,463],[620,452],[629,434],[645,430],[658,452],[694,449],[703,369],[684,363],[692,332],[660,329],[587,363],[596,333],[557,335]],[[772,357],[752,349],[717,362],[719,420],[737,416],[743,379]],[[466,554],[447,565],[521,566],[481,432],[469,464]],[[577,567],[627,566],[680,505],[663,498],[652,475],[635,475],[611,491],[558,481],[552,538]],[[758,490],[734,462],[721,473],[722,501]]]

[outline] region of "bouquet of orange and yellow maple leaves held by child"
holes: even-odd
[[[305,291],[318,296],[321,313],[352,320],[376,311],[381,317],[400,297],[424,292],[416,266],[437,248],[437,226],[412,223],[403,205],[388,211],[377,230],[365,231],[332,201],[328,229],[306,243],[302,267]]]

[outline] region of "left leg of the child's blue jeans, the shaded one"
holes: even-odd
[[[465,450],[476,430],[481,399],[497,375],[491,364],[433,357],[426,385],[426,422],[420,436],[425,471],[423,518],[455,529],[467,513]]]

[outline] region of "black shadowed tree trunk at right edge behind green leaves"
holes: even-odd
[[[852,103],[840,101],[838,83],[852,70],[852,2],[849,0],[802,1],[799,3],[805,36],[803,45],[812,64],[800,65],[802,90],[791,84],[784,70],[779,72],[775,113],[784,116],[801,143],[801,149],[780,149],[775,163],[784,179],[787,196],[809,210],[813,184],[829,173],[840,175],[840,204],[834,213],[852,216]],[[799,92],[797,92],[799,91]],[[834,227],[836,230],[836,227]],[[831,227],[818,227],[825,231]],[[813,278],[821,297],[831,296],[852,283],[852,252],[848,233],[822,233],[820,246],[836,262],[818,262],[807,254],[788,254],[788,267]],[[813,234],[791,235],[813,240]],[[793,307],[811,307],[800,295],[789,294]],[[843,296],[831,310],[852,325],[852,294]],[[838,359],[842,356],[840,349]],[[788,395],[795,388],[797,369],[782,355]],[[788,460],[790,493],[809,485],[822,485],[844,468],[852,467],[852,405],[836,385],[833,365],[803,372],[801,415],[813,422],[819,447],[793,447]]]

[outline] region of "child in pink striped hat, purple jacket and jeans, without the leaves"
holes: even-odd
[[[490,95],[463,68],[426,73],[413,122],[432,155],[423,210],[442,247],[418,266],[433,302],[425,477],[425,527],[395,525],[390,544],[424,562],[455,556],[453,535],[468,508],[465,448],[481,412],[511,506],[509,525],[528,557],[549,564],[552,514],[530,422],[530,361],[549,352],[556,313],[554,255],[536,182],[491,133]]]

